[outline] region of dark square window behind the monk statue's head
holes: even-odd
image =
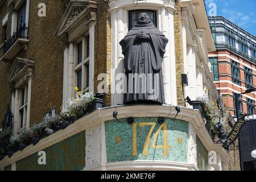
[[[156,11],[154,10],[131,10],[129,11],[129,30],[137,23],[138,15],[141,13],[147,13],[150,16],[151,22],[157,27],[156,24]]]

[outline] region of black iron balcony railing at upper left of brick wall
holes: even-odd
[[[28,39],[28,27],[20,26],[9,40],[3,44],[3,55],[15,44],[18,39]]]

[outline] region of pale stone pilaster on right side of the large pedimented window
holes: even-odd
[[[89,92],[94,91],[94,30],[95,23],[91,23],[89,28]]]

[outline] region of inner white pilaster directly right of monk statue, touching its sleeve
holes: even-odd
[[[162,7],[160,10],[161,14],[161,27],[162,27],[162,32],[166,36],[166,38],[169,39],[169,34],[168,34],[168,13],[166,11],[165,7]],[[168,42],[166,46],[166,53],[164,54],[163,57],[163,85],[164,85],[164,98],[166,101],[166,104],[172,104],[171,101],[171,79],[170,79],[170,41]]]

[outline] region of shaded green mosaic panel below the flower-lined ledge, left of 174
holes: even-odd
[[[85,167],[85,131],[50,146],[46,165],[38,164],[38,153],[16,162],[17,171],[78,171]]]

